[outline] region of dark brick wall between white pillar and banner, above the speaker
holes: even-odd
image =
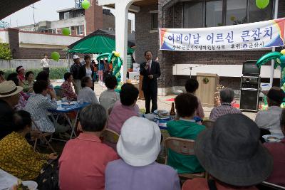
[[[159,41],[158,32],[151,31],[151,14],[150,11],[157,10],[157,5],[140,6],[140,11],[135,14],[135,61],[142,63],[145,61],[144,53],[147,50],[152,51],[152,56],[158,56]]]

